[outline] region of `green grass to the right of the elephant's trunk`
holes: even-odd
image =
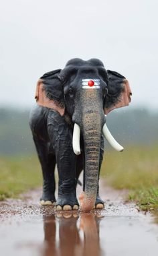
[[[128,199],[141,210],[158,210],[157,147],[129,147],[104,156],[102,177],[116,189],[128,189]]]

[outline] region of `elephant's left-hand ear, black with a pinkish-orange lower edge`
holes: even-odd
[[[40,77],[35,90],[35,99],[40,106],[53,108],[64,115],[64,92],[59,79],[61,69],[50,71]]]

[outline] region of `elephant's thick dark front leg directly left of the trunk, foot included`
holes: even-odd
[[[50,141],[56,152],[58,166],[58,200],[56,210],[78,210],[76,199],[76,155],[72,149],[72,131],[64,117],[50,111],[48,117]]]

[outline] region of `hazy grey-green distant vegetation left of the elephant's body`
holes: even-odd
[[[0,108],[1,155],[25,155],[35,152],[28,120],[29,110]]]

